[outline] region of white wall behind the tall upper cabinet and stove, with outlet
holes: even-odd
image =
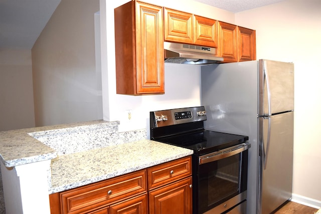
[[[104,120],[120,121],[119,131],[144,129],[149,127],[149,111],[200,105],[200,67],[191,65],[165,64],[165,94],[129,96],[116,94],[114,8],[127,3],[121,1],[100,1],[101,29],[107,29],[107,51],[102,50],[103,114]],[[224,19],[234,23],[234,14],[207,7],[194,1],[144,1],[201,16]],[[192,3],[192,4],[190,4]],[[107,4],[107,5],[105,5]],[[106,18],[104,18],[106,17]],[[106,22],[106,23],[103,23]],[[108,82],[106,81],[108,79]],[[132,110],[128,120],[127,110]]]

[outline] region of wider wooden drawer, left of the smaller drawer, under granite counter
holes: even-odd
[[[146,171],[140,170],[61,193],[62,213],[82,213],[146,191]]]

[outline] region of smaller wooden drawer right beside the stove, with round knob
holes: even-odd
[[[184,157],[167,163],[149,167],[147,169],[148,189],[182,179],[192,175],[192,158]]]

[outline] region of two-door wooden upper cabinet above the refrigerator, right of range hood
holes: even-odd
[[[217,55],[223,62],[256,60],[255,31],[219,21]]]

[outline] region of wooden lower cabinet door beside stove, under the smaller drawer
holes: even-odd
[[[154,189],[149,192],[149,214],[191,214],[192,178]]]

